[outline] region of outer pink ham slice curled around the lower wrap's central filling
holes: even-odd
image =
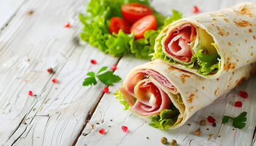
[[[161,94],[161,103],[160,105],[157,104],[151,104],[149,103],[149,100],[136,100],[136,102],[133,101],[133,98],[135,97],[135,90],[134,87],[137,85],[138,82],[141,80],[143,81],[146,75],[151,75],[151,77],[155,78],[160,84],[165,86],[166,88],[177,92],[177,89],[165,78],[163,75],[159,74],[156,71],[153,71],[151,69],[144,69],[141,71],[135,72],[126,82],[125,87],[119,88],[119,90],[124,95],[126,101],[129,103],[129,105],[132,107],[134,111],[136,111],[138,114],[141,114],[143,116],[150,116],[157,113],[160,113],[163,109],[168,109],[169,105],[171,103],[171,100],[169,99],[168,95],[165,91],[158,88],[158,91],[160,91]],[[146,84],[146,82],[145,82]],[[154,85],[155,86],[155,85]]]

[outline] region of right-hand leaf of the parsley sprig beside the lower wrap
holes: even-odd
[[[112,83],[122,80],[122,78],[120,78],[118,75],[113,75],[112,71],[107,71],[103,74],[96,75],[96,77],[98,77],[99,80],[105,85],[112,85]]]

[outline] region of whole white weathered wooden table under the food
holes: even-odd
[[[171,9],[183,16],[193,15],[193,5],[201,12],[219,10],[243,0],[155,0],[158,12],[171,15]],[[253,2],[256,2],[254,0]],[[79,12],[84,0],[0,0],[0,145],[162,145],[160,138],[176,139],[179,145],[255,145],[256,77],[230,91],[210,106],[197,111],[176,130],[152,128],[123,106],[112,95],[127,73],[138,64],[133,55],[122,58],[103,54],[79,38]],[[69,22],[71,28],[63,25]],[[90,60],[98,64],[91,64]],[[110,86],[85,87],[89,71],[117,64],[115,74],[123,80]],[[53,68],[55,74],[46,69]],[[53,83],[57,78],[59,83]],[[238,91],[249,94],[241,99]],[[29,96],[32,91],[36,96]],[[237,100],[243,108],[233,107]],[[222,116],[237,116],[247,111],[246,127],[221,124]],[[199,125],[213,116],[217,126]],[[121,127],[129,128],[124,133]],[[104,128],[106,134],[100,134]],[[201,128],[202,135],[193,133]],[[207,130],[207,128],[209,130]],[[209,134],[213,134],[209,139]],[[147,138],[148,137],[148,138]]]

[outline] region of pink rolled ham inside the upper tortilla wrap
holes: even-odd
[[[184,24],[172,30],[171,35],[165,41],[165,50],[173,57],[188,62],[192,53],[188,45],[194,40],[196,29],[192,24]]]

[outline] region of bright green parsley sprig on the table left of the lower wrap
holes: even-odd
[[[105,71],[106,69],[107,66],[103,66],[101,69],[99,69],[97,74],[95,74],[94,72],[88,72],[87,75],[89,75],[90,77],[85,78],[83,86],[96,85],[96,77],[105,85],[112,85],[112,83],[116,83],[122,79],[118,75],[113,75],[112,71],[107,71],[102,74],[99,74]]]

